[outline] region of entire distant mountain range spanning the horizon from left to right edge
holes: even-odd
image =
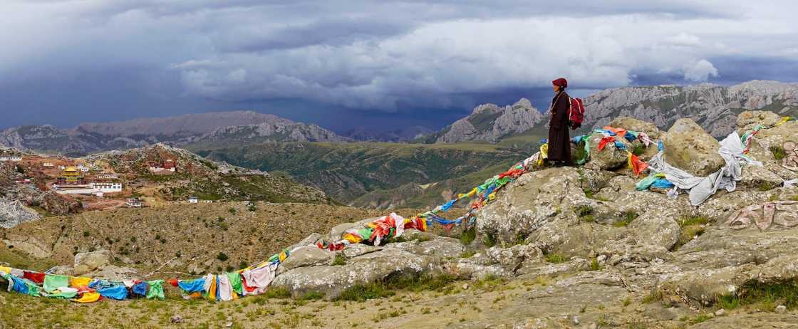
[[[585,97],[587,117],[583,131],[601,127],[614,117],[636,117],[668,129],[689,117],[713,134],[729,133],[737,113],[746,109],[798,114],[798,84],[749,81],[740,85],[656,85],[606,89]],[[476,106],[468,116],[440,131],[407,127],[386,131],[353,129],[342,135],[271,114],[232,111],[186,114],[178,117],[84,123],[73,129],[27,125],[0,131],[0,145],[80,156],[111,149],[130,149],[159,142],[168,145],[227,145],[261,142],[415,142],[499,143],[519,134],[545,136],[547,113],[525,98],[513,105]]]

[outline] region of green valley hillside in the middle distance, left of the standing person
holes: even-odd
[[[216,161],[267,172],[285,172],[294,180],[322,189],[350,203],[370,192],[390,191],[405,184],[430,184],[410,204],[425,205],[430,196],[442,200],[446,189],[473,186],[527,157],[532,137],[518,137],[516,146],[484,144],[392,143],[261,143],[252,145],[188,145],[187,149]],[[491,170],[486,170],[491,168]],[[496,170],[494,170],[496,169]],[[476,175],[476,176],[475,176]],[[438,184],[432,184],[438,183]],[[405,186],[402,194],[412,192]],[[422,201],[423,200],[423,201]],[[365,201],[364,201],[365,202]]]

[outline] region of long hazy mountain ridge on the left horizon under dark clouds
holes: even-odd
[[[186,145],[198,141],[350,141],[318,125],[307,125],[271,114],[231,111],[178,117],[83,123],[73,129],[26,125],[0,132],[0,145],[82,156],[112,149],[156,143]]]

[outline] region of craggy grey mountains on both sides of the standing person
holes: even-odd
[[[798,84],[748,81],[739,85],[655,85],[602,90],[585,97],[583,131],[600,128],[615,117],[635,117],[667,130],[674,121],[689,117],[714,137],[734,129],[737,113],[760,109],[783,116],[798,115]],[[548,111],[541,114],[522,98],[512,106],[479,105],[471,114],[430,134],[426,143],[488,141],[496,143],[530,130],[545,132]]]

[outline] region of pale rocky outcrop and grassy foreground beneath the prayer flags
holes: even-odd
[[[744,112],[737,125],[777,120]],[[688,172],[723,166],[717,140],[689,120],[667,132],[630,118],[613,125],[662,138],[666,161],[681,159]],[[342,252],[300,247],[340,240],[369,220],[329,223],[292,246],[300,248],[267,295],[76,306],[3,293],[0,303],[42,311],[0,319],[10,327],[798,327],[798,188],[782,186],[798,172],[784,168],[789,153],[777,146],[785,141],[798,141],[798,122],[761,130],[750,155],[763,165],[743,167],[735,191],[698,206],[685,193],[636,190],[642,177],[626,168],[626,153],[591,143],[584,167],[536,168],[509,184],[478,213],[474,231],[410,229]],[[648,160],[656,152],[638,153]],[[43,234],[29,229],[28,239]]]

